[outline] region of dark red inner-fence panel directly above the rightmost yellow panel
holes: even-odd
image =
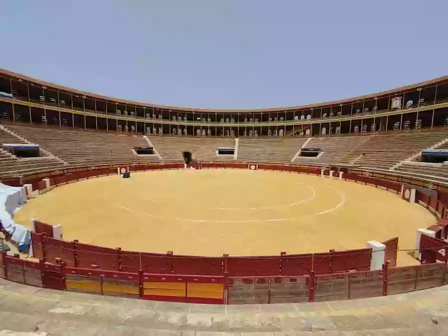
[[[171,257],[174,274],[224,275],[224,257]]]

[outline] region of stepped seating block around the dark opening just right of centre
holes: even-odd
[[[321,153],[317,157],[298,156],[293,162],[303,164],[329,164],[339,162],[344,154],[366,139],[367,136],[312,138],[307,143],[306,148],[320,148]],[[349,161],[350,158],[346,163],[350,163]]]

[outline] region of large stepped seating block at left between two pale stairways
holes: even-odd
[[[98,165],[159,161],[157,155],[138,155],[134,147],[147,147],[141,136],[52,127],[7,125],[8,129],[64,160],[69,165]]]

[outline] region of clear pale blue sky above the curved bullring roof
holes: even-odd
[[[0,67],[152,104],[337,100],[448,74],[447,0],[1,0]]]

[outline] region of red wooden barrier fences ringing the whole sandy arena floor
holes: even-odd
[[[183,163],[80,167],[43,172],[4,184],[32,184],[42,194],[75,181],[129,171],[183,169]],[[320,175],[322,167],[244,162],[201,163],[201,168],[265,169]],[[325,171],[328,175],[328,169]],[[49,179],[47,185],[43,179]],[[437,191],[417,200],[441,219],[447,217],[448,189],[425,181],[351,171],[344,179],[400,194],[402,183]],[[122,251],[52,238],[52,225],[36,222],[32,232],[38,262],[0,255],[0,277],[27,285],[160,301],[215,304],[296,303],[404,293],[448,284],[448,244],[422,235],[422,263],[393,267],[398,239],[386,244],[383,269],[370,271],[371,249],[260,257],[197,257]],[[438,262],[439,261],[439,262]],[[441,262],[442,261],[442,262]]]

